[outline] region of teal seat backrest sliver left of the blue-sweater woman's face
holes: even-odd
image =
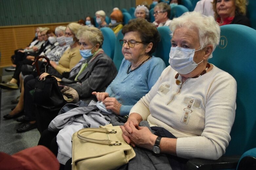
[[[120,42],[119,42],[120,39],[124,39],[122,30],[120,30],[119,33],[117,34],[116,41],[115,41],[115,53],[114,53],[113,62],[117,70],[119,70],[122,60],[124,58],[124,55],[122,54],[122,46],[120,45]]]

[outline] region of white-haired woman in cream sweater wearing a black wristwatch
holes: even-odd
[[[217,160],[225,153],[235,118],[236,81],[208,63],[220,40],[213,17],[187,12],[173,19],[170,29],[170,66],[133,106],[121,129],[128,144],[148,149],[147,155],[165,156],[172,169],[182,169],[186,159]],[[148,157],[158,159],[155,154]],[[132,162],[147,159],[140,155],[136,153]]]

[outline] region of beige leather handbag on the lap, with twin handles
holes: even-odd
[[[134,157],[119,126],[85,128],[72,136],[72,170],[114,170]]]

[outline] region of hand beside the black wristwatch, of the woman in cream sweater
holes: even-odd
[[[149,150],[154,146],[155,140],[157,138],[147,127],[139,126],[137,129],[133,124],[130,124],[130,128],[132,132],[129,133],[126,131],[124,126],[120,126],[123,134],[123,138],[129,138],[129,143],[132,144],[133,147],[139,146],[144,147]]]

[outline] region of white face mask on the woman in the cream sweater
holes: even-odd
[[[201,50],[201,49],[199,49]],[[171,47],[169,54],[170,66],[180,74],[187,74],[193,71],[200,63],[196,64],[193,61],[195,49],[187,49],[181,47]]]

